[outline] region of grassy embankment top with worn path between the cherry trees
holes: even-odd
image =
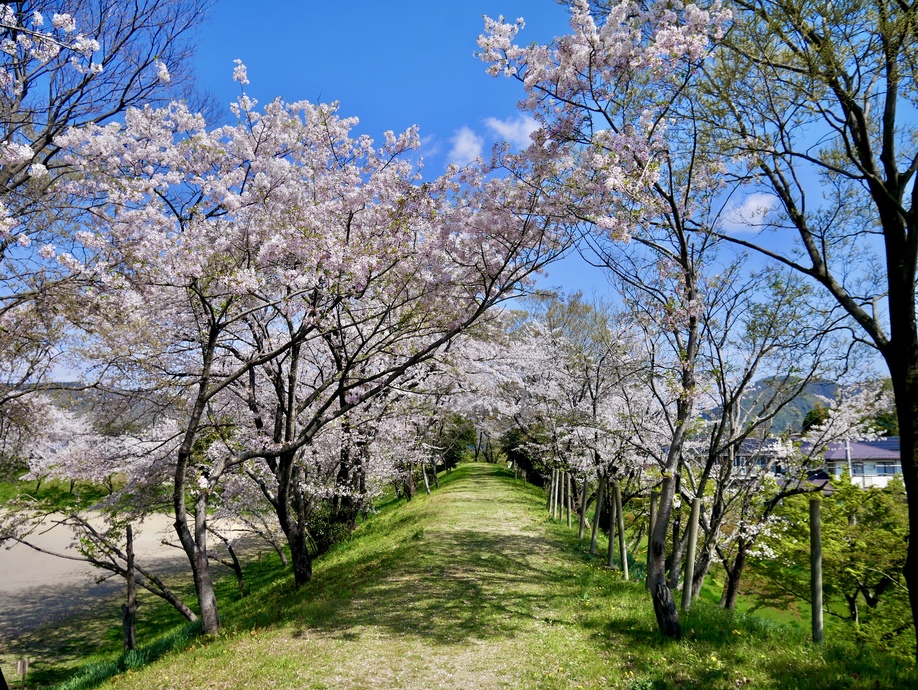
[[[362,525],[310,586],[274,579],[224,618],[218,639],[103,687],[918,687],[889,660],[705,605],[661,640],[640,584],[549,523],[541,491],[479,464]]]

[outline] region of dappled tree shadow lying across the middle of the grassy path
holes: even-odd
[[[541,564],[547,548],[537,537],[458,531],[368,554],[370,567],[341,563],[322,573],[330,596],[310,601],[304,591],[298,597],[294,635],[320,630],[355,639],[373,628],[449,645],[514,635],[520,619],[552,622],[546,612],[553,600],[570,592],[558,587],[564,571]],[[332,584],[355,571],[363,576],[349,586]],[[576,583],[567,577],[573,591]],[[546,596],[549,589],[555,594]]]

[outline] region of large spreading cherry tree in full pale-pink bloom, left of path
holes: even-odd
[[[247,83],[243,65],[235,77]],[[420,183],[414,129],[375,148],[334,105],[256,105],[243,94],[238,123],[212,130],[177,103],[129,110],[123,125],[58,140],[100,276],[83,294],[82,353],[178,420],[172,503],[207,633],[219,629],[208,509],[223,476],[267,465],[263,493],[307,581],[300,460],[320,432],[567,246],[527,185],[454,169]]]

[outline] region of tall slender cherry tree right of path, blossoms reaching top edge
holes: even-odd
[[[642,291],[643,317],[668,334],[673,367],[671,438],[662,471],[659,519],[651,535],[649,582],[660,630],[680,634],[666,585],[665,546],[675,475],[697,395],[699,313],[712,260],[720,159],[711,134],[672,116],[729,13],[696,5],[610,4],[603,15],[571,4],[571,33],[551,45],[513,43],[522,22],[486,19],[479,38],[491,74],[519,80],[521,106],[541,129],[524,153],[553,171],[558,213],[594,229],[585,240],[626,289]],[[511,165],[514,161],[510,161]],[[630,247],[623,248],[625,243]]]

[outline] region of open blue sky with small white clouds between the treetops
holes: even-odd
[[[339,101],[340,114],[360,118],[358,131],[377,140],[416,124],[425,168],[438,174],[478,149],[487,156],[499,140],[525,141],[531,127],[516,109],[522,87],[488,76],[475,57],[486,14],[524,17],[527,43],[568,28],[567,8],[554,0],[273,0],[257,11],[250,1],[218,0],[199,33],[195,70],[223,106],[240,93],[232,80],[240,59],[246,92],[262,104]],[[542,285],[608,291],[603,274],[576,258]]]

